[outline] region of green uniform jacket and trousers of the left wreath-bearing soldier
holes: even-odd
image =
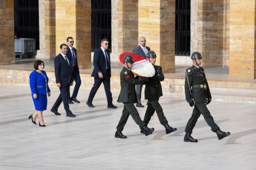
[[[137,77],[134,78],[132,72],[127,69],[127,67],[123,67],[120,73],[121,92],[119,94],[117,102],[123,103],[124,109],[121,119],[116,127],[117,130],[123,131],[129,115],[132,116],[132,119],[136,122],[136,124],[139,125],[140,128],[146,125],[140,119],[139,112],[134,106],[134,103],[137,103],[135,85],[144,83],[145,82],[143,79],[137,79]]]

